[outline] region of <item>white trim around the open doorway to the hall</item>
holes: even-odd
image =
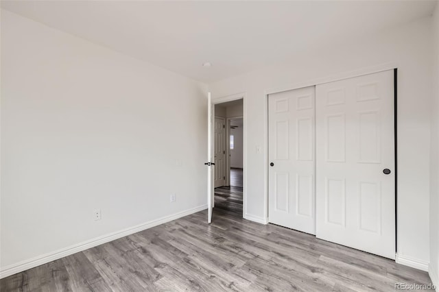
[[[222,97],[212,97],[211,104],[223,104],[227,101],[234,101],[237,99],[242,99],[242,122],[243,122],[243,130],[242,130],[242,147],[243,147],[243,167],[244,171],[242,173],[242,186],[243,186],[243,193],[242,193],[242,217],[244,219],[248,219],[247,215],[247,107],[246,107],[246,93],[235,93],[233,95],[226,95]],[[211,137],[212,138],[212,137]],[[229,142],[230,143],[230,142]],[[226,147],[227,148],[227,147]],[[214,149],[215,151],[215,149]],[[251,219],[250,219],[251,220]]]

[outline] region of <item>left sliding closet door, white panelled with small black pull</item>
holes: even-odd
[[[316,232],[315,88],[268,97],[268,217],[271,223]]]

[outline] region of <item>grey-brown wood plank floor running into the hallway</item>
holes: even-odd
[[[0,281],[3,291],[394,291],[427,273],[280,226],[242,219],[241,188],[206,211]]]

